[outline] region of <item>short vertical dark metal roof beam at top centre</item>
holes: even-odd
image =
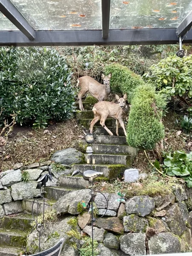
[[[102,0],[102,38],[109,37],[111,0]]]

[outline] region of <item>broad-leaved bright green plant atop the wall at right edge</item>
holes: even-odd
[[[162,166],[164,175],[178,176],[186,180],[187,186],[192,187],[192,152],[169,152],[165,155]]]

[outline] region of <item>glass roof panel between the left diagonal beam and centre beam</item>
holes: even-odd
[[[35,30],[101,29],[101,0],[12,0]]]

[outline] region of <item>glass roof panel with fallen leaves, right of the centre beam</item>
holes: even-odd
[[[191,0],[111,0],[110,29],[176,28]]]

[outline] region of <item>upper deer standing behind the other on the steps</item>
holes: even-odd
[[[110,78],[111,74],[105,76],[102,74],[103,84],[100,84],[90,76],[82,76],[77,81],[77,86],[80,84],[81,91],[78,94],[78,101],[79,101],[79,109],[82,111],[84,110],[82,104],[82,96],[85,93],[89,92],[94,98],[98,101],[102,101],[108,98],[109,94],[111,93],[110,88]]]

